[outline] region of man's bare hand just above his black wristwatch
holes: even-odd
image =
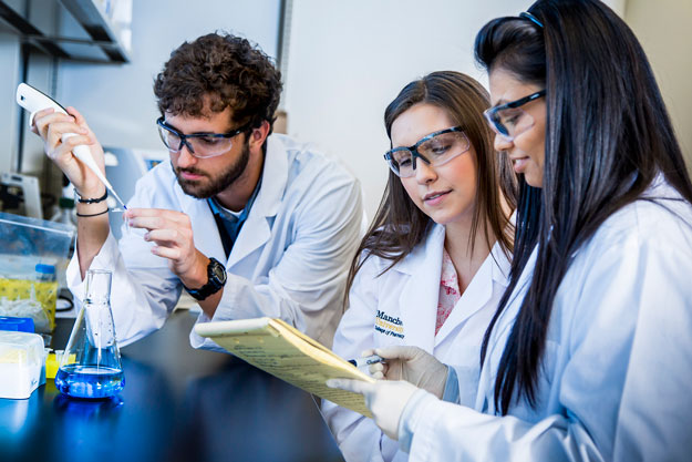
[[[152,253],[167,258],[171,270],[186,287],[207,284],[209,259],[195,247],[189,216],[162,208],[130,208],[123,218],[134,228],[148,230],[144,240],[156,244]]]

